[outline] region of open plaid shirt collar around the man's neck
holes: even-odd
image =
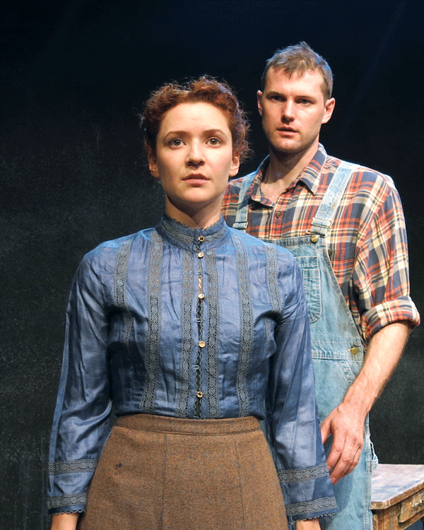
[[[298,177],[293,180],[289,188],[293,188],[297,186],[299,182],[302,182],[302,184],[304,184],[305,187],[307,187],[307,189],[309,189],[309,191],[313,195],[315,195],[319,186],[319,177],[321,175],[322,167],[324,166],[326,156],[327,154],[324,149],[324,146],[322,145],[322,143],[319,143],[317,153],[315,153],[314,158],[312,158],[310,163],[300,172]],[[269,199],[266,199],[266,197],[261,194],[260,189],[261,182],[264,178],[268,165],[269,155],[259,165],[256,172],[256,176],[252,183],[252,187],[250,188],[248,193],[250,192],[252,201],[257,201],[263,204],[269,204],[269,206],[273,206],[273,202]]]

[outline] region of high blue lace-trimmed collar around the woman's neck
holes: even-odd
[[[156,230],[172,245],[186,250],[197,249],[199,245],[202,249],[217,247],[230,235],[230,229],[223,216],[220,216],[220,219],[208,228],[190,228],[165,213],[156,226]]]

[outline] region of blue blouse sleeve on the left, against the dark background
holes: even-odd
[[[93,251],[95,252],[95,251]],[[109,434],[107,315],[93,252],[78,268],[49,452],[49,513],[83,512],[86,490]]]

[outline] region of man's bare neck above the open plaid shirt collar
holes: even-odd
[[[302,153],[278,153],[270,148],[269,166],[261,182],[261,192],[276,202],[314,158],[317,149],[318,142]]]

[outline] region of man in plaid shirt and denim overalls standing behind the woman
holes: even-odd
[[[230,182],[223,214],[230,226],[298,258],[340,510],[319,522],[322,529],[370,530],[376,459],[367,415],[420,317],[409,297],[404,216],[391,178],[330,157],[319,144],[334,110],[331,90],[328,64],[305,42],[269,59],[257,93],[269,157]],[[295,520],[300,510],[291,506],[288,514]]]

